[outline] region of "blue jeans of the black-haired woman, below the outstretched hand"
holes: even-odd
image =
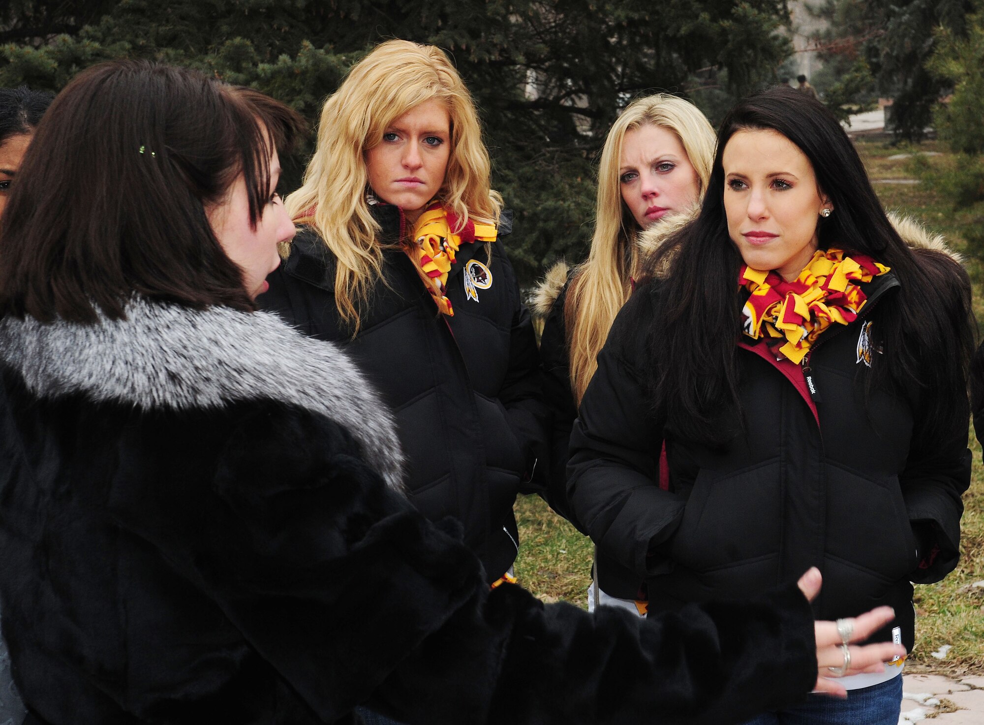
[[[902,676],[861,690],[847,699],[811,694],[801,705],[767,712],[743,725],[897,725],[902,707]]]

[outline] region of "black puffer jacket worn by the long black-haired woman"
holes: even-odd
[[[954,274],[954,288],[961,284]],[[960,494],[970,481],[967,401],[954,394],[960,423],[932,437],[916,391],[904,399],[873,391],[865,404],[859,350],[878,345],[878,323],[866,323],[891,314],[899,292],[892,273],[863,287],[861,318],[828,330],[813,349],[815,403],[764,345],[739,345],[744,426],[722,419],[723,429],[737,430],[724,450],[685,438],[640,403],[641,331],[660,313],[659,284],[619,313],[572,435],[568,492],[596,546],[646,578],[650,611],[758,591],[816,565],[824,574],[819,617],[891,605],[912,647],[910,581],[937,581],[958,558]],[[664,440],[669,491],[654,481]],[[606,581],[608,573],[599,572],[606,592],[634,596],[634,579]]]

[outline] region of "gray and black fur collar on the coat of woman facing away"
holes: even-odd
[[[0,359],[41,398],[81,393],[147,410],[272,399],[320,413],[347,428],[387,483],[402,488],[393,417],[335,345],[272,312],[133,297],[126,314],[93,325],[4,319]]]

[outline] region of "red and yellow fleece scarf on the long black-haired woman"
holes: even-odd
[[[792,282],[742,265],[738,284],[752,293],[742,310],[744,332],[766,338],[777,358],[799,364],[831,324],[857,319],[868,297],[854,283],[871,282],[889,269],[863,254],[845,256],[840,249],[818,249]]]

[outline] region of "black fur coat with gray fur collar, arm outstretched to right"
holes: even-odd
[[[28,722],[725,723],[816,678],[809,607],[641,623],[494,591],[393,422],[276,315],[0,322],[0,600]]]

